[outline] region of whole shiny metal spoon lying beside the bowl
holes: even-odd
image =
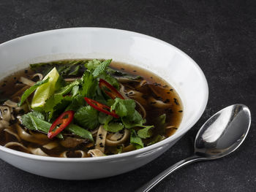
[[[220,110],[209,118],[197,132],[194,155],[170,166],[157,177],[138,188],[137,192],[151,190],[167,175],[182,166],[229,155],[244,142],[250,124],[251,114],[249,108],[244,104],[233,104]]]

